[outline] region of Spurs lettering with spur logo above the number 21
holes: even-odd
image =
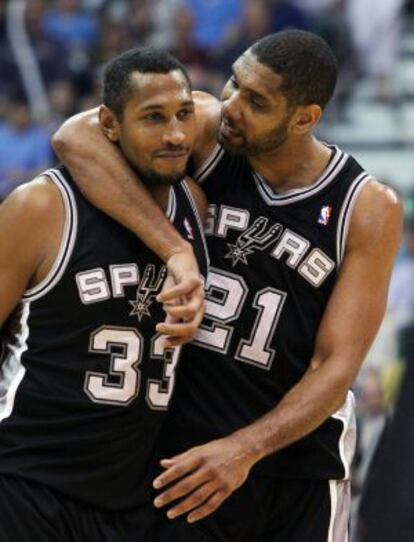
[[[229,252],[225,258],[231,259],[233,267],[238,263],[248,265],[248,257],[256,251],[270,249],[270,255],[277,260],[282,257],[286,264],[312,286],[318,288],[335,269],[335,262],[320,248],[311,247],[311,243],[282,224],[269,223],[261,216],[249,226],[250,213],[221,205],[209,206],[207,235],[226,237],[229,230],[242,231],[235,243],[227,243]]]

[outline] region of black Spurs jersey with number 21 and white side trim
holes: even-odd
[[[186,348],[165,448],[227,435],[275,407],[306,372],[368,175],[332,148],[312,186],[274,193],[247,160],[217,146],[196,173],[210,207],[206,317]],[[310,436],[264,459],[277,478],[349,475],[353,396]]]

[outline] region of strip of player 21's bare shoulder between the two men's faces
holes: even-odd
[[[193,149],[193,162],[198,168],[208,158],[217,143],[221,102],[206,92],[193,92],[197,122],[197,137]]]

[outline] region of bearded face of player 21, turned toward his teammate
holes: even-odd
[[[280,92],[282,78],[249,51],[233,65],[222,93],[218,140],[228,150],[257,156],[279,148],[289,136],[292,110]]]

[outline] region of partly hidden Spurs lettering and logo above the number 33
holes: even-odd
[[[130,300],[132,309],[129,316],[137,316],[141,322],[144,316],[151,316],[151,305],[160,291],[167,275],[167,268],[156,270],[148,264],[142,278],[137,264],[111,265],[108,271],[103,268],[89,269],[76,275],[79,297],[83,304],[98,303],[115,297],[125,297],[125,287],[138,285],[136,297]]]

